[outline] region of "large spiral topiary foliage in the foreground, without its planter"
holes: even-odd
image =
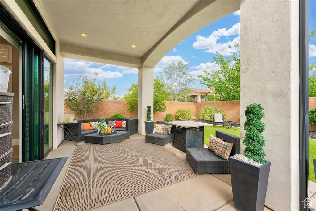
[[[244,149],[244,155],[247,156],[248,159],[259,163],[267,163],[263,150],[265,141],[261,135],[264,131],[264,123],[261,121],[264,117],[263,107],[260,104],[250,104],[246,107],[245,116],[246,137],[243,143],[246,147]]]

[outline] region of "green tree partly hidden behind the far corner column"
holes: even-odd
[[[124,94],[127,110],[133,112],[138,107],[138,84],[133,83],[128,92]],[[167,107],[164,101],[168,101],[168,93],[165,90],[165,84],[158,78],[154,78],[154,114],[156,112],[165,112]]]

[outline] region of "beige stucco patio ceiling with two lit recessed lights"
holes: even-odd
[[[154,67],[187,36],[240,7],[215,0],[34,2],[45,9],[64,57],[133,68]]]

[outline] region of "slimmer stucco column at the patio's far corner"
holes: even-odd
[[[138,68],[138,133],[145,135],[147,105],[151,105],[151,120],[154,121],[154,68]]]

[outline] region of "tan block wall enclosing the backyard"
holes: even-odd
[[[109,118],[115,113],[121,113],[126,118],[137,119],[137,109],[133,113],[127,110],[125,105],[125,100],[102,100],[100,109],[95,112],[95,118]],[[200,108],[199,105],[201,104]],[[228,120],[239,121],[240,120],[240,100],[232,101],[210,101],[210,102],[166,102],[167,111],[166,112],[156,112],[154,115],[154,120],[166,120],[166,114],[171,113],[175,117],[175,113],[179,108],[188,108],[194,112],[194,117],[196,117],[199,109],[204,108],[206,105],[212,105],[219,108],[222,112],[226,114]],[[308,109],[316,107],[316,97],[309,98]],[[64,106],[64,111],[73,114],[70,109]],[[76,119],[80,119],[76,116]],[[309,131],[316,131],[316,127],[309,125]]]

